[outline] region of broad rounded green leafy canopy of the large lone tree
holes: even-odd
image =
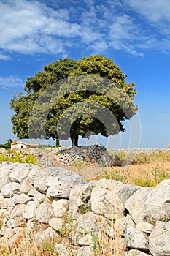
[[[10,102],[18,138],[72,139],[124,132],[123,121],[136,113],[134,83],[104,56],[60,59],[28,78]]]

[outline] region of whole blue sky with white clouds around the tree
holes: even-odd
[[[125,135],[107,140],[107,146],[167,148],[169,0],[0,0],[0,20],[0,143],[15,138],[9,101],[28,77],[61,58],[101,54],[136,84],[139,106]]]

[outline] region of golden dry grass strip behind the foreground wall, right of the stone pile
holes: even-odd
[[[159,170],[165,174],[164,178],[170,178],[170,153],[150,154],[144,159],[140,159],[139,164],[125,165],[123,167],[99,167],[98,165],[88,164],[82,166],[69,166],[69,170],[79,173],[85,180],[109,178],[117,179],[127,184],[133,184],[134,180],[141,178],[142,180],[149,179],[157,182],[155,170]],[[66,167],[66,165],[65,165]],[[163,178],[163,177],[162,177]]]

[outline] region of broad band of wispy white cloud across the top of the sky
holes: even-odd
[[[146,48],[168,53],[168,1],[88,0],[83,8],[79,1],[75,1],[75,7],[70,1],[63,8],[59,0],[57,6],[53,0],[0,0],[0,59],[9,59],[5,51],[66,56],[68,49],[80,45],[89,53],[104,53],[108,48],[135,56],[143,56]],[[129,10],[139,14],[138,20]],[[145,26],[149,24],[147,29],[144,19]]]

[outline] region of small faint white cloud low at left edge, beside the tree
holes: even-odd
[[[24,81],[20,78],[16,78],[13,76],[9,77],[0,77],[0,86],[7,88],[7,87],[18,87],[24,85]]]

